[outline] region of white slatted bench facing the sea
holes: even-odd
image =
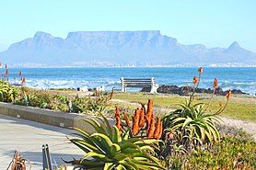
[[[121,78],[122,92],[126,92],[126,87],[143,88],[149,87],[150,93],[157,93],[158,85],[155,78]]]

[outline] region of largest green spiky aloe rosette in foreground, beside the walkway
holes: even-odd
[[[122,132],[111,125],[104,116],[97,119],[84,119],[96,130],[89,134],[75,128],[79,138],[68,138],[85,156],[73,163],[82,164],[87,169],[164,169],[154,156],[153,144],[159,140],[130,138],[129,131]],[[149,154],[151,153],[151,154]],[[92,159],[87,159],[87,158]]]

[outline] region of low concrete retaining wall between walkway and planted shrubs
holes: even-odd
[[[63,128],[76,127],[82,130],[87,130],[87,132],[94,131],[91,125],[82,120],[88,116],[76,113],[66,113],[50,109],[32,108],[0,102],[0,114]]]

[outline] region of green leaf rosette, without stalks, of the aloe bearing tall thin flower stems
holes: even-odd
[[[188,100],[180,104],[180,109],[175,110],[162,119],[163,126],[168,127],[169,131],[180,134],[180,144],[185,142],[219,142],[220,135],[215,128],[215,123],[219,119],[215,114],[205,111],[204,103],[189,105]]]

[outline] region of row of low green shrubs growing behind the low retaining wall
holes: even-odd
[[[34,90],[23,86],[18,91],[18,95],[14,101],[14,104],[37,108],[49,108],[53,110],[68,112],[70,111],[68,106],[69,101],[71,101],[72,112],[97,113],[98,111],[104,111],[106,107],[108,107],[109,99],[110,96],[103,96],[103,94],[94,97],[67,97],[62,95],[52,95],[48,91]]]

